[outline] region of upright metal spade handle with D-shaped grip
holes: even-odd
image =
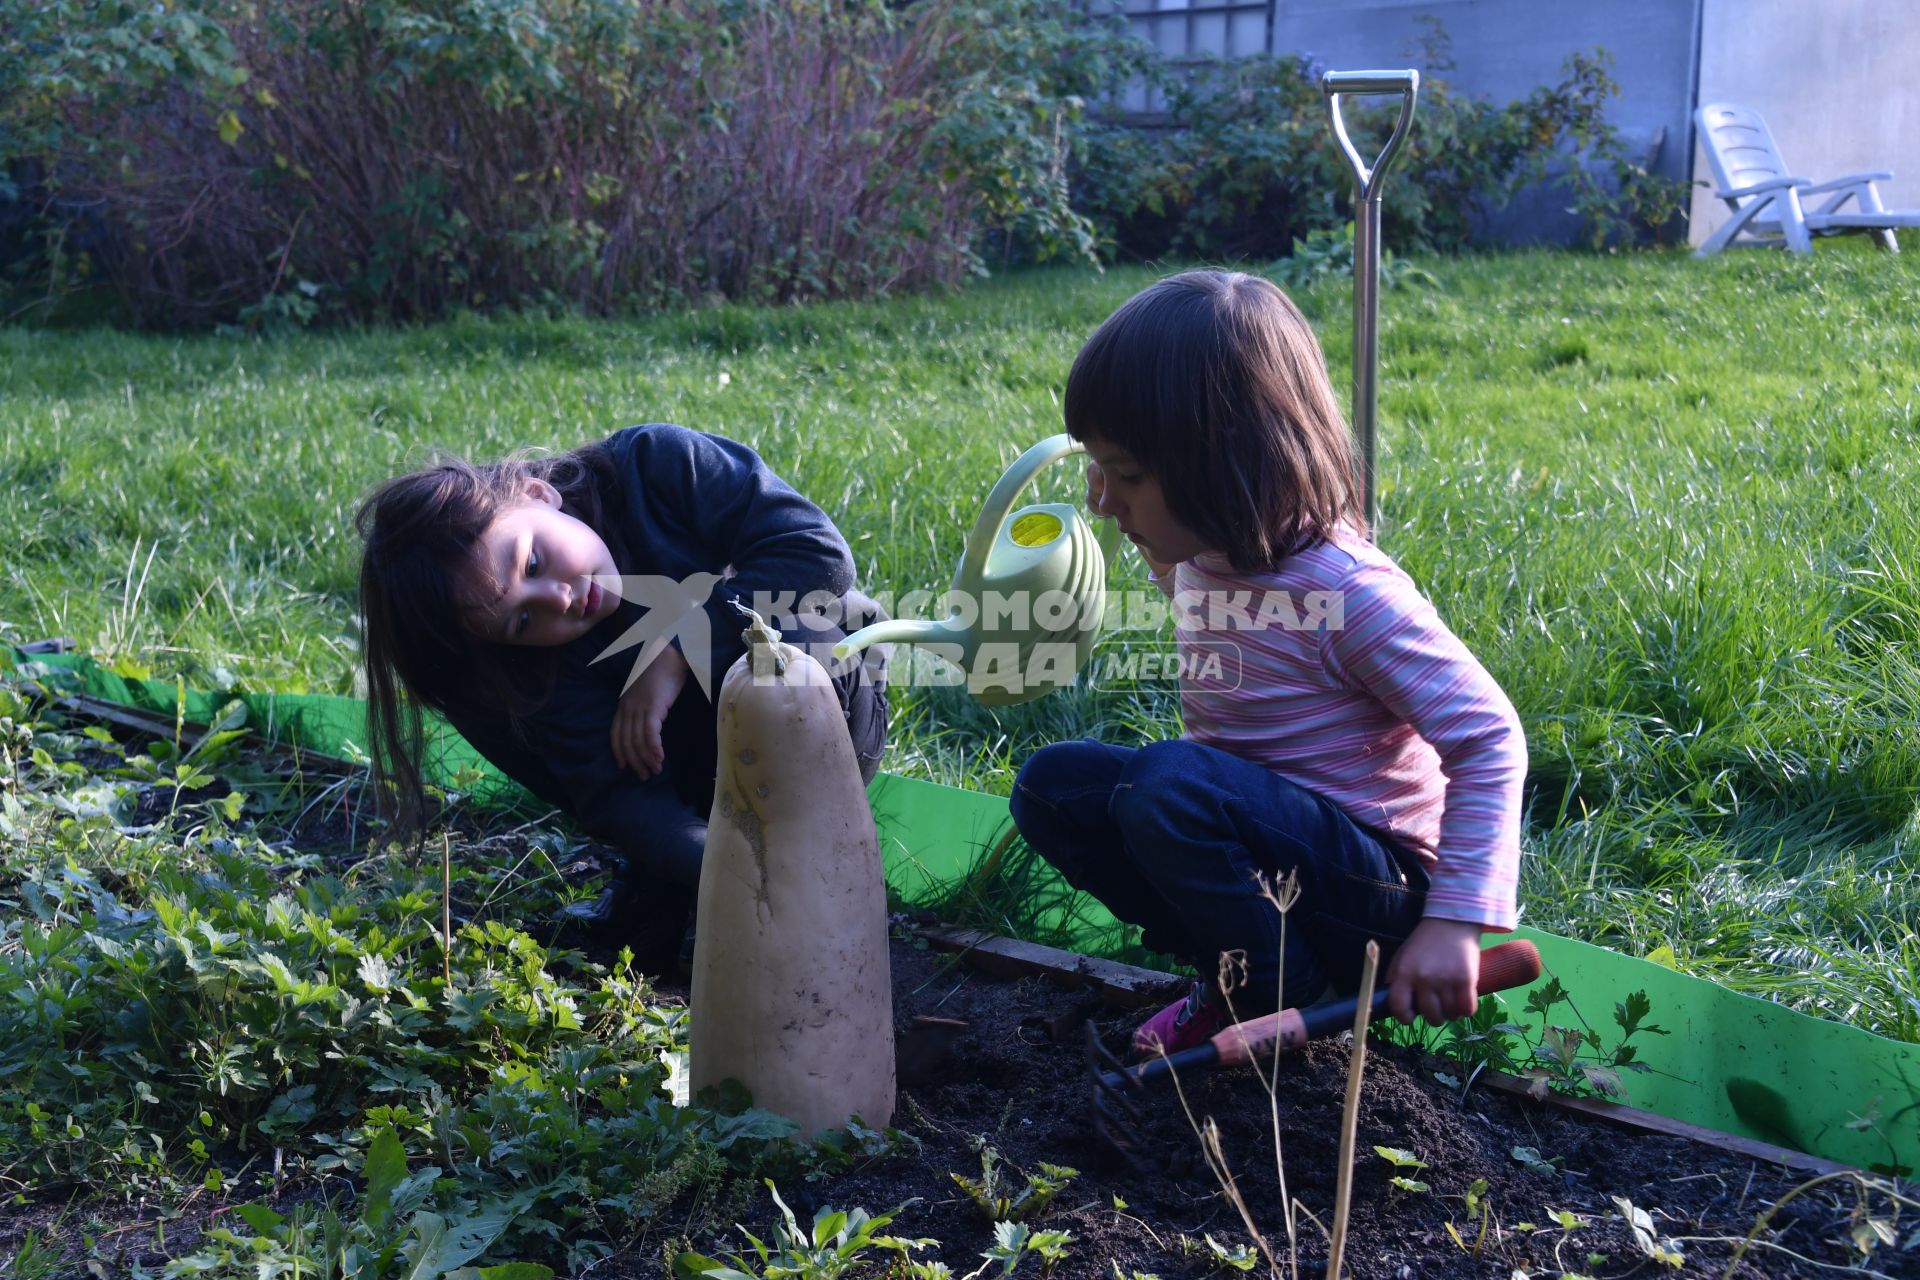
[[[1332,111],[1332,136],[1354,175],[1354,434],[1365,474],[1367,528],[1379,537],[1380,491],[1375,484],[1375,403],[1380,370],[1380,184],[1394,152],[1413,129],[1413,100],[1421,92],[1421,73],[1407,71],[1329,71],[1321,92]],[[1340,98],[1348,94],[1400,94],[1400,119],[1386,136],[1380,155],[1369,165],[1359,157],[1340,117]]]

